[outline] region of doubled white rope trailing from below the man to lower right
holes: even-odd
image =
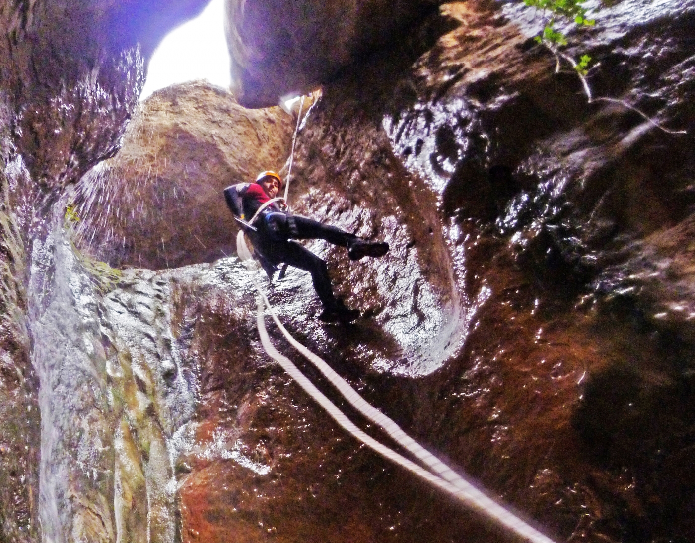
[[[251,252],[246,245],[243,232],[239,232],[236,237],[236,248],[239,257],[245,262],[247,269],[252,272],[252,279],[256,290],[259,293],[259,303],[258,303],[258,314],[256,317],[256,323],[259,328],[259,334],[261,336],[261,344],[265,349],[265,352],[274,359],[282,368],[297,382],[297,384],[306,391],[309,396],[311,396],[316,402],[323,407],[326,412],[332,416],[332,418],[342,426],[347,432],[350,432],[354,437],[359,439],[363,444],[373,449],[373,451],[379,453],[383,457],[391,460],[395,464],[398,464],[405,469],[408,469],[412,473],[416,474],[420,478],[427,480],[427,482],[432,485],[439,487],[449,494],[456,496],[458,499],[466,503],[466,505],[471,508],[478,510],[498,522],[502,526],[509,528],[517,535],[524,537],[526,540],[533,543],[553,543],[553,540],[543,535],[538,530],[534,529],[529,524],[525,523],[523,520],[516,517],[512,512],[509,512],[501,505],[490,499],[488,496],[480,492],[467,480],[459,476],[455,471],[448,467],[444,462],[439,460],[436,456],[432,455],[423,446],[420,446],[414,439],[409,437],[403,430],[388,416],[382,414],[370,405],[366,400],[364,400],[357,391],[355,391],[349,383],[347,383],[340,375],[338,375],[333,369],[326,364],[325,361],[316,356],[309,349],[304,347],[301,343],[296,341],[291,334],[286,330],[286,328],[280,323],[279,318],[272,309],[268,298],[263,294],[261,290],[261,285],[256,277],[255,264],[251,256]],[[285,335],[285,337],[290,341],[293,347],[299,350],[304,357],[309,359],[309,362],[314,364],[321,373],[323,373],[328,380],[339,390],[341,394],[345,396],[347,401],[355,407],[359,412],[368,417],[371,421],[377,423],[381,428],[383,428],[389,435],[401,446],[406,448],[416,457],[418,457],[423,463],[434,471],[428,471],[423,467],[418,466],[414,462],[411,462],[407,458],[403,457],[399,453],[396,453],[391,448],[384,446],[379,443],[376,439],[366,435],[362,430],[357,428],[357,426],[347,419],[347,416],[341,412],[341,410],[332,403],[320,390],[318,390],[309,381],[304,374],[295,366],[290,359],[281,355],[272,343],[270,343],[270,338],[268,337],[268,331],[265,329],[265,322],[263,321],[263,304],[270,311],[270,315],[273,321],[277,324],[279,329]]]

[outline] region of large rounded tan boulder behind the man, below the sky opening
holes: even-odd
[[[280,170],[294,120],[247,110],[229,92],[186,83],[140,106],[115,158],[76,184],[79,246],[112,266],[177,268],[234,250],[222,190]]]

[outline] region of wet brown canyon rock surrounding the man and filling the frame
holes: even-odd
[[[237,68],[283,83],[240,77],[236,98],[322,84],[293,210],[391,244],[353,262],[308,243],[361,311],[350,326],[315,318],[305,273],[259,272],[281,321],[555,540],[692,540],[692,2],[623,0],[570,29],[591,103],[516,3],[398,3],[368,17],[379,36],[358,24],[377,3],[302,3],[334,17],[306,26],[245,6],[284,41],[261,54],[240,26]],[[136,110],[156,33],[104,31],[124,9],[1,12],[0,540],[515,540],[270,362],[220,191],[283,167],[295,119],[203,83]]]

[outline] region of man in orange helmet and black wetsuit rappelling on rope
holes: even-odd
[[[389,244],[367,241],[334,226],[295,216],[280,202],[268,203],[275,199],[281,186],[282,179],[277,173],[261,172],[254,183],[239,183],[225,188],[224,198],[249,236],[254,246],[254,257],[271,279],[281,263],[308,271],[323,304],[318,318],[324,322],[354,321],[359,311],[348,309],[343,300],[335,298],[326,262],[295,240],[323,239],[347,248],[351,260],[382,257],[389,251]]]

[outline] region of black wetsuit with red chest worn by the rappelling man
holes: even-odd
[[[224,189],[227,206],[234,215],[251,220],[259,207],[270,200],[260,185],[240,183]],[[247,229],[254,250],[259,253],[263,268],[272,275],[275,266],[282,262],[300,270],[311,273],[313,288],[327,309],[336,307],[331,279],[328,275],[326,262],[306,249],[295,239],[324,239],[333,245],[350,248],[354,241],[359,240],[354,234],[348,234],[334,226],[324,225],[306,217],[290,215],[281,211],[277,204],[266,207],[254,220],[256,231]],[[263,262],[265,260],[265,263]],[[270,264],[270,267],[268,266]]]

